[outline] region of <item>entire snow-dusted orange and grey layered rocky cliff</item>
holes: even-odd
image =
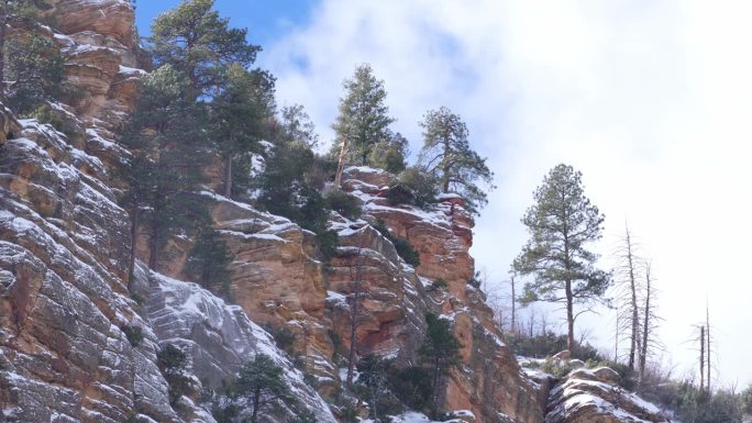
[[[464,420],[615,421],[588,420],[597,408],[569,408],[579,385],[550,392],[548,377],[520,368],[483,292],[468,283],[473,219],[462,201],[447,196],[428,210],[390,204],[385,187],[392,176],[385,171],[346,170],[343,188],[360,199],[364,215],[332,213],[340,247],[329,264],[314,258],[312,233],[206,191],[233,256],[234,304],[183,281],[191,277],[184,266],[190,240],[173,245],[176,258],[164,275],[140,266],[132,298],[129,215],[117,203],[122,187],[113,176],[130,155],[114,130],[133,110],[145,75],[133,8],[124,0],[53,3],[47,13],[57,25],[48,36],[65,57],[66,84],[82,94],[53,104],[55,126],[19,121],[0,107],[0,422],[213,422],[199,390],[219,387],[257,354],[284,369],[318,421],[334,422],[322,398],[343,383],[338,357],[350,353],[353,298],[361,303],[353,343],[360,357],[414,364],[425,313],[453,323],[462,366],[443,380],[441,402],[465,410]],[[420,266],[399,257],[377,221],[416,247]],[[146,253],[142,247],[142,258]],[[446,286],[436,288],[438,280]],[[259,324],[290,331],[292,354]],[[129,337],[136,330],[141,342]],[[178,404],[170,404],[157,366],[166,344],[187,352],[196,383]],[[318,391],[301,370],[316,378]],[[617,403],[626,394],[594,396]],[[654,421],[651,412],[633,415]]]

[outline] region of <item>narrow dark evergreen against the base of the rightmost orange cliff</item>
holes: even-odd
[[[428,325],[425,339],[418,353],[423,357],[425,365],[431,371],[431,387],[433,389],[433,403],[439,399],[439,383],[443,376],[461,364],[460,348],[462,345],[454,337],[449,320],[440,319],[435,314],[425,314]]]

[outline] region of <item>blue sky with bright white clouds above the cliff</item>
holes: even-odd
[[[177,1],[139,2],[137,23]],[[497,189],[472,253],[500,282],[528,234],[532,191],[555,165],[583,172],[606,215],[600,265],[626,222],[652,261],[659,336],[681,376],[709,304],[716,383],[752,382],[752,3],[719,0],[219,0],[264,48],[280,105],[302,103],[323,140],[342,80],[369,63],[396,131],[441,105],[467,123]],[[552,320],[554,318],[552,316]],[[612,348],[613,312],[578,321]],[[559,325],[561,331],[565,326]],[[670,358],[668,358],[670,357]]]

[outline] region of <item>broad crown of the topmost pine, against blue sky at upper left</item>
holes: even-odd
[[[172,65],[190,80],[195,96],[213,96],[230,65],[247,68],[261,51],[245,41],[247,30],[231,29],[213,10],[214,0],[184,0],[152,24],[156,65]]]

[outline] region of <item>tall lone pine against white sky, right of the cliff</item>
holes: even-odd
[[[522,218],[530,241],[513,264],[519,274],[534,276],[524,285],[521,302],[563,302],[572,350],[574,323],[582,313],[575,314],[574,305],[601,301],[611,280],[594,267],[597,255],[586,248],[600,240],[605,218],[585,197],[582,174],[572,166],[554,167],[533,197],[535,203]]]

